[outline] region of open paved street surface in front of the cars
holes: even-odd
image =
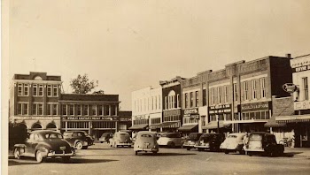
[[[286,153],[282,157],[244,156],[159,148],[156,156],[135,156],[133,148],[110,148],[97,143],[79,150],[70,164],[48,159],[9,159],[10,175],[35,174],[309,174],[310,159]]]

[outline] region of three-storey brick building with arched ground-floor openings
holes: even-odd
[[[28,131],[60,129],[61,77],[46,72],[14,74],[10,86],[9,118]]]

